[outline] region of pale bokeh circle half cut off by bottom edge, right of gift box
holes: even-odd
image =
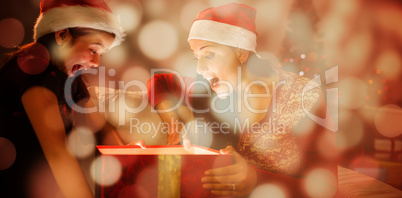
[[[257,186],[250,194],[250,198],[260,198],[267,196],[275,198],[288,197],[286,191],[275,184],[262,184],[260,186]]]

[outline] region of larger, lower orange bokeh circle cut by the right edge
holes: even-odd
[[[384,105],[379,108],[374,118],[378,132],[385,137],[396,137],[402,134],[402,108],[398,105]]]

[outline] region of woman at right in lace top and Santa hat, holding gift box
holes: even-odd
[[[244,99],[237,101],[240,105],[234,102],[233,106],[237,108],[237,122],[246,127],[241,128],[240,134],[234,131],[231,136],[213,136],[211,146],[219,148],[232,144],[221,152],[230,153],[234,164],[207,170],[201,178],[203,188],[214,195],[242,197],[262,184],[273,184],[281,189],[279,194],[272,195],[274,197],[281,193],[291,197],[336,196],[336,155],[326,155],[336,153],[335,144],[331,144],[335,141],[334,133],[325,132],[304,113],[307,110],[321,117],[325,115],[320,90],[314,88],[304,94],[303,88],[310,86],[309,79],[275,66],[264,66],[270,73],[267,86],[252,79],[247,72],[246,65],[256,47],[255,14],[254,8],[244,4],[208,8],[199,13],[190,30],[188,41],[197,60],[197,73],[209,81],[217,97],[225,100],[240,95],[239,98]],[[194,79],[180,79],[172,74],[155,75],[148,81],[150,102],[165,122],[192,122],[200,115],[208,117],[204,112],[213,108],[199,108],[200,100],[194,96],[197,91],[193,82]],[[259,97],[245,98],[244,94]],[[183,95],[184,100],[181,100]],[[215,99],[209,101],[216,102]],[[177,100],[190,102],[174,108]],[[302,130],[299,126],[313,127]],[[168,144],[180,142],[179,132],[180,129],[170,132]],[[191,134],[185,135],[185,146],[189,139],[194,143]],[[204,137],[205,134],[198,139]],[[222,141],[225,138],[232,139]],[[322,144],[327,145],[324,150]],[[316,180],[309,174],[314,170],[325,170],[330,176]],[[317,181],[320,190],[314,191],[315,187],[309,184]]]

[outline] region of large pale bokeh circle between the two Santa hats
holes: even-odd
[[[149,58],[166,59],[178,47],[177,30],[167,22],[151,21],[140,30],[138,44]]]

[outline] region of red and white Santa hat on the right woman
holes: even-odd
[[[255,53],[258,34],[255,15],[256,10],[245,4],[207,8],[194,20],[188,40],[212,41]]]

